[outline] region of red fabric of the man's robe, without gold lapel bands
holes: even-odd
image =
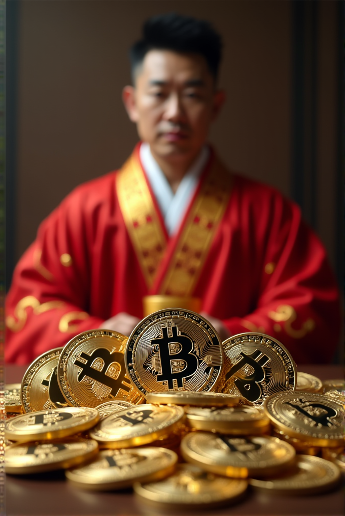
[[[119,312],[142,318],[143,296],[159,292],[181,229],[169,238],[162,228],[167,249],[149,289],[121,212],[117,175],[78,186],[40,225],[7,296],[7,362],[27,364]],[[155,209],[163,225],[157,203]],[[299,364],[329,361],[337,347],[338,290],[325,250],[299,207],[270,186],[234,175],[192,295],[232,334],[272,335]]]

